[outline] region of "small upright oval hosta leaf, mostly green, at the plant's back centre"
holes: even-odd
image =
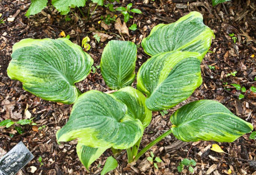
[[[130,86],[135,78],[137,48],[133,42],[111,40],[100,62],[102,77],[110,89]]]

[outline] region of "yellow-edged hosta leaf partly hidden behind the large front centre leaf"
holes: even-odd
[[[128,108],[128,115],[133,118],[138,118],[144,128],[150,124],[152,111],[146,107],[146,97],[140,91],[132,87],[125,87],[112,93],[112,95],[125,103]]]

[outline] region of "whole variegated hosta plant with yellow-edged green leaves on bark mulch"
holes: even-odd
[[[129,41],[110,41],[102,53],[102,77],[117,90],[114,93],[78,93],[73,83],[86,77],[92,62],[67,39],[29,39],[15,44],[8,75],[44,99],[74,103],[56,138],[58,142],[77,139],[77,154],[87,169],[109,148],[113,152],[126,149],[128,162],[133,162],[169,134],[184,142],[233,142],[253,129],[221,103],[199,100],[175,111],[171,128],[138,152],[152,111],[176,106],[201,85],[200,64],[212,38],[212,30],[198,12],[155,26],[142,41],[152,57],[138,70],[137,89],[131,87],[137,50]]]

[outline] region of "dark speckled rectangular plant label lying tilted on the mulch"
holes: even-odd
[[[19,142],[0,159],[0,175],[15,175],[33,158],[34,155],[29,149],[22,142]]]

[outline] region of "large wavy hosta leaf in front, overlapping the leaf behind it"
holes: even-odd
[[[78,97],[69,120],[57,131],[58,142],[78,139],[89,147],[127,149],[142,136],[141,121],[127,114],[124,103],[109,94],[90,90]]]

